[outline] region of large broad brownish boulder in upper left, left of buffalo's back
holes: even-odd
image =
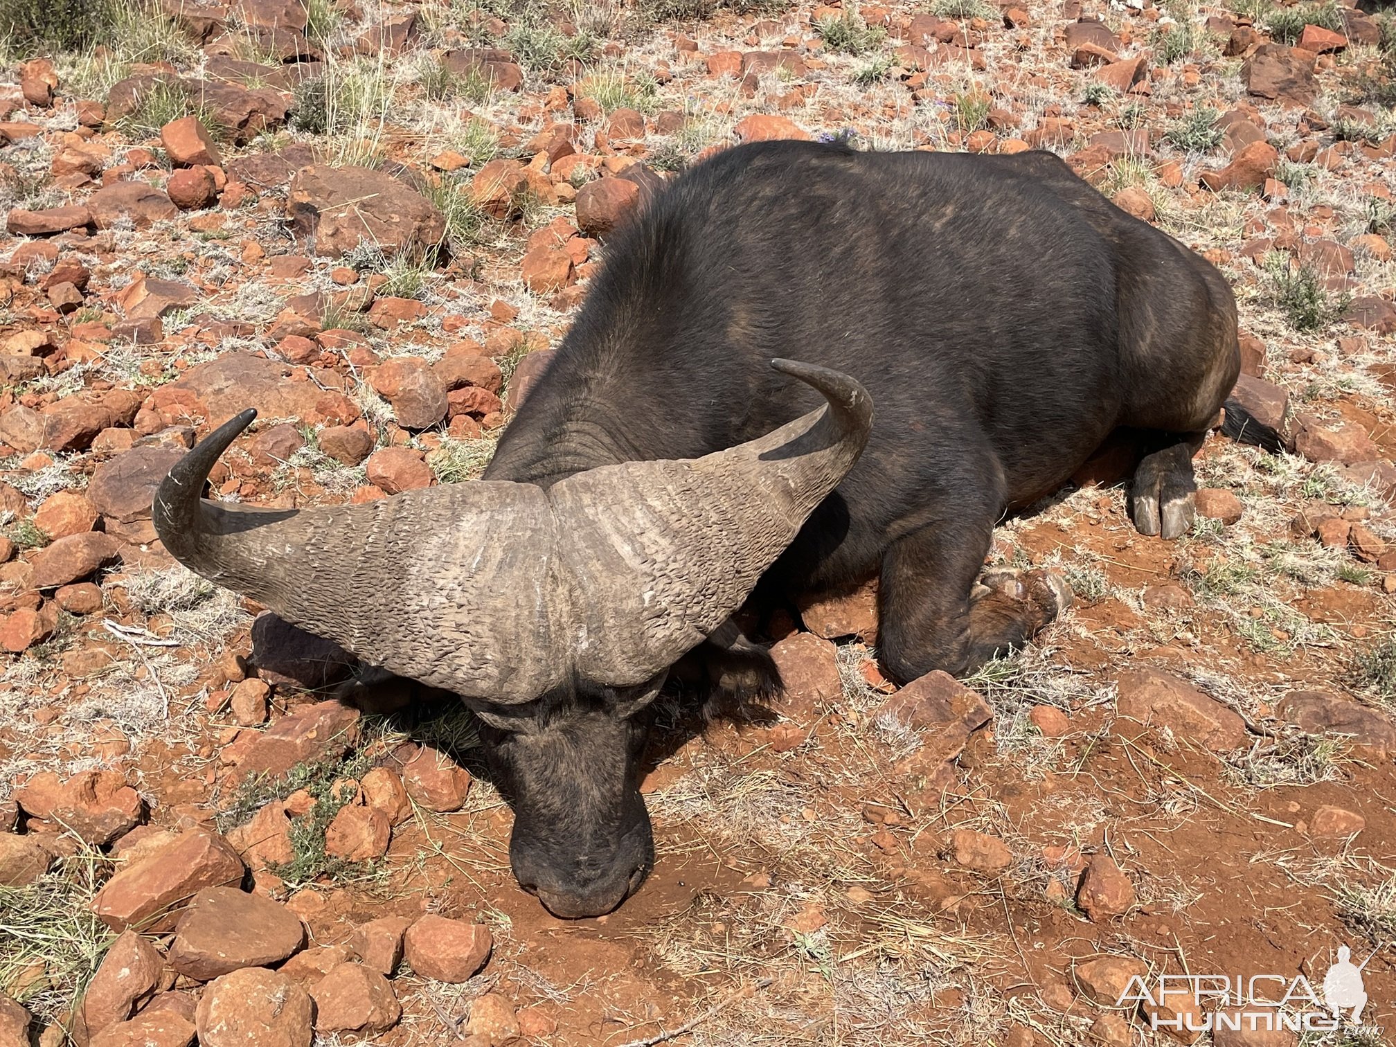
[[[331,258],[360,242],[385,255],[429,251],[445,236],[445,219],[426,197],[369,168],[302,168],[286,214],[296,236],[313,237],[315,254]]]

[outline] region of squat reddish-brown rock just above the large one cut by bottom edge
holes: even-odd
[[[281,963],[306,942],[306,930],[286,906],[236,888],[211,886],[194,895],[174,928],[169,965],[186,977],[211,981],[243,967]]]

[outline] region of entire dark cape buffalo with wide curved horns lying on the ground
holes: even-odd
[[[973,670],[1069,599],[1041,572],[976,585],[995,522],[1129,427],[1134,521],[1181,535],[1238,369],[1222,275],[1051,154],[752,144],[617,232],[483,480],[201,503],[248,413],[170,473],[155,525],[200,574],[461,694],[519,884],[593,916],[653,859],[635,766],[669,670],[779,683],[730,618],[754,589],[878,575],[886,673]]]

